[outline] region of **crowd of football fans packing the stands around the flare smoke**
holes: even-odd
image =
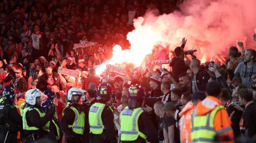
[[[128,11],[136,11],[135,17],[143,16],[147,9],[155,8],[160,13],[170,13],[178,9],[177,3],[180,1],[3,0],[0,3],[1,85],[13,86],[16,96],[21,98],[24,98],[25,92],[31,88],[54,91],[58,95],[57,111],[60,119],[61,112],[67,104],[66,92],[69,88],[87,90],[86,100],[92,104],[99,83],[108,82],[114,89],[113,107],[118,131],[118,115],[128,104],[128,88],[132,84],[140,84],[147,91],[146,110],[158,128],[159,140],[168,139],[177,143],[182,140],[179,133],[182,126],[179,128],[176,124],[180,116],[185,115],[185,111],[182,110],[187,109],[184,108],[186,104],[193,103],[195,106],[199,100],[203,100],[206,96],[203,92],[207,90],[207,83],[215,80],[221,87],[218,98],[230,116],[234,137],[254,136],[256,52],[253,49],[245,50],[241,42],[241,54],[237,47],[230,47],[226,64],[220,65],[216,62],[211,70],[209,62],[200,63],[195,56],[192,56],[192,60],[186,56],[184,60],[186,41],[182,40],[181,47],[173,51],[171,70],[151,65],[146,70],[127,68],[128,79],[116,77],[113,81],[103,81],[96,76],[94,65],[99,65],[110,58],[114,44],[119,44],[123,48],[129,47],[125,35],[133,26],[127,24]],[[72,51],[72,47],[80,40],[97,42],[103,45],[105,52],[83,54],[78,57]],[[163,59],[169,57],[168,52],[158,50],[153,56],[155,59],[159,59],[160,52],[165,56]],[[59,66],[78,70],[81,74],[78,78],[60,75],[57,73]],[[198,94],[198,91],[203,92]],[[167,102],[175,104],[175,117],[163,116],[165,113],[160,110],[163,106],[161,103]],[[166,122],[159,122],[157,116],[161,116]],[[174,128],[169,132],[174,132],[175,135],[164,137],[163,133],[168,133],[168,128],[172,125]]]

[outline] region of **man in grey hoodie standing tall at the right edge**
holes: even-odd
[[[252,80],[252,75],[256,74],[256,52],[254,49],[247,49],[244,53],[244,61],[239,63],[235,70],[235,77],[233,81],[236,81],[239,76],[242,83],[250,88],[254,83]]]

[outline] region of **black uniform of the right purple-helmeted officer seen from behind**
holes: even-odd
[[[158,132],[150,120],[147,112],[142,112],[138,120],[139,131],[147,136],[147,141],[151,143],[158,143]],[[122,134],[121,134],[122,136]],[[145,139],[138,137],[135,141],[122,141],[122,143],[146,143]]]

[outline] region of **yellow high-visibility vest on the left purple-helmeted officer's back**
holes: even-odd
[[[94,103],[90,107],[89,124],[90,124],[90,132],[93,134],[102,134],[103,132],[104,125],[102,123],[101,115],[104,107],[105,107],[105,104],[98,103],[98,102]],[[110,110],[113,112],[112,108],[110,108]]]

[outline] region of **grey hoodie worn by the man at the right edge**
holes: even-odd
[[[256,62],[252,65],[251,68],[248,68],[247,65],[244,62],[241,62],[237,65],[237,68],[234,72],[235,77],[233,81],[236,81],[238,79],[238,76],[240,75],[242,79],[242,83],[247,87],[250,88],[252,84],[254,83],[252,80],[252,75],[256,74]]]

